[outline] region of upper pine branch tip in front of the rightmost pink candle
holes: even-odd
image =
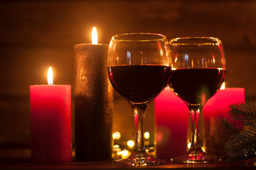
[[[253,102],[237,102],[230,105],[229,116],[244,125],[256,125],[256,104]]]

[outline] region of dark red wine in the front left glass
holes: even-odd
[[[171,67],[161,65],[120,65],[108,67],[112,86],[133,103],[152,101],[166,87]]]

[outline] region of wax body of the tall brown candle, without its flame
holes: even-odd
[[[76,160],[112,158],[113,88],[107,75],[107,44],[75,45]]]

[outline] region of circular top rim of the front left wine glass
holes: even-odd
[[[153,35],[155,37],[159,37],[159,38],[151,38],[151,39],[141,39],[141,40],[125,40],[122,39],[122,37],[128,37],[131,35]],[[118,42],[154,42],[154,41],[163,41],[166,40],[167,38],[165,35],[162,34],[154,34],[154,33],[128,33],[128,34],[117,34],[112,36],[112,40],[113,41],[118,41]]]

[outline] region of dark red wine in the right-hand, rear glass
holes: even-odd
[[[225,73],[222,68],[178,68],[171,71],[169,86],[189,104],[204,103],[219,90]]]

